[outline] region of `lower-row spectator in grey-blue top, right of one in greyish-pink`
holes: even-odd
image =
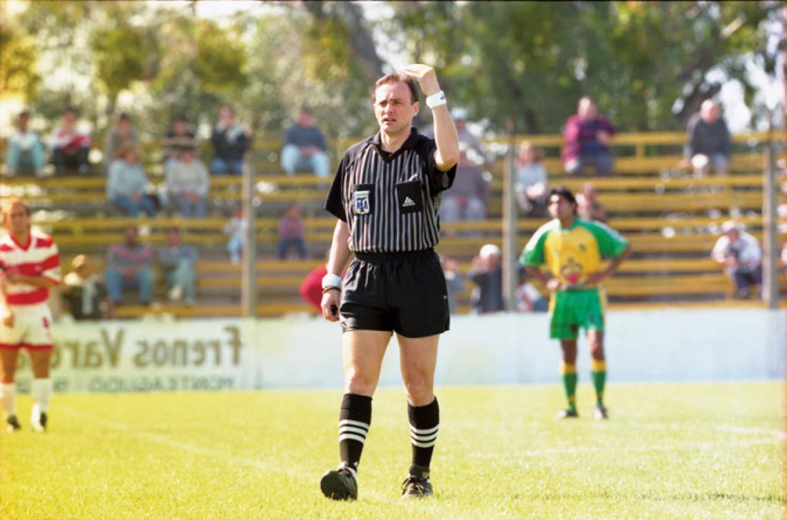
[[[167,245],[158,250],[158,263],[164,271],[167,297],[194,305],[197,294],[197,249],[183,244],[180,231],[167,231]]]

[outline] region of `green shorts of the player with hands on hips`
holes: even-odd
[[[604,330],[604,312],[607,308],[603,290],[588,289],[559,291],[552,294],[549,310],[549,337],[560,340],[577,339],[579,327]]]

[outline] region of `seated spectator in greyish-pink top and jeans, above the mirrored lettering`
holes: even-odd
[[[153,250],[138,241],[136,226],[123,230],[123,243],[109,246],[106,262],[106,289],[115,305],[123,290],[136,290],[139,304],[153,300]]]

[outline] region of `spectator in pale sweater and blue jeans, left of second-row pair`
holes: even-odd
[[[106,197],[127,216],[139,216],[140,211],[153,216],[156,208],[145,193],[146,186],[147,175],[142,168],[139,149],[133,142],[124,142],[109,164]]]

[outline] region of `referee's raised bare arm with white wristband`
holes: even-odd
[[[438,170],[449,171],[459,162],[459,135],[456,134],[445,94],[440,90],[438,76],[434,68],[419,63],[408,65],[405,74],[418,82],[427,97],[426,103],[434,120],[434,142],[438,148],[434,153],[434,163]]]

